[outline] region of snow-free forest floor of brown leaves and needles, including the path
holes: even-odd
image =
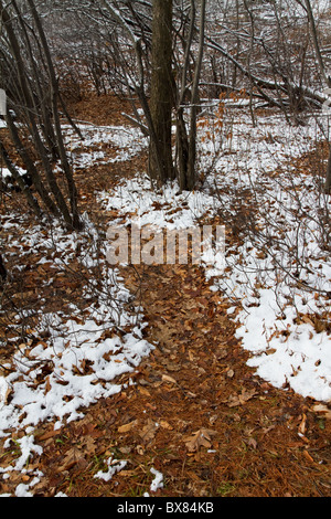
[[[125,124],[122,107],[109,99],[75,108],[77,119]],[[111,147],[107,152],[111,157]],[[82,212],[106,222],[109,214],[100,210],[95,192],[143,168],[142,150],[120,166],[77,169]],[[2,212],[11,204],[17,210],[17,199],[8,199]],[[33,253],[10,261],[24,273],[25,304],[35,304],[47,269],[34,264]],[[330,497],[330,420],[314,410],[313,399],[274,388],[247,366],[249,353],[235,337],[229,303],[211,292],[203,269],[128,266],[121,275],[143,307],[143,339],[152,351],[134,373],[120,375],[120,392],[88,405],[81,420],[56,430],[55,420],[39,423],[33,434],[42,451],[21,472],[6,473],[0,494],[15,495],[25,485],[44,497]],[[66,304],[73,297],[77,304],[78,287],[65,276],[56,284]],[[44,288],[50,307],[63,309],[51,289],[49,298],[45,294]],[[0,350],[1,364],[9,354]],[[24,434],[15,432],[13,441]],[[0,438],[1,467],[14,465],[12,445]],[[111,468],[108,480],[96,477]],[[42,476],[32,485],[36,470]],[[153,488],[159,473],[162,480]]]

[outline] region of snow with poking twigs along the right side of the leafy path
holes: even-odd
[[[235,152],[221,153],[215,182],[223,210],[229,212],[234,194],[249,188],[258,232],[234,254],[228,251],[228,275],[215,279],[214,289],[241,301],[237,336],[263,379],[330,401],[330,234],[323,235],[321,215],[330,225],[331,198],[321,192],[318,176],[298,174],[293,167],[293,159],[321,138],[319,129],[313,119],[298,128],[264,117],[256,128],[242,119],[232,133],[227,146]],[[276,169],[276,176],[269,174]],[[324,321],[319,327],[320,315]]]

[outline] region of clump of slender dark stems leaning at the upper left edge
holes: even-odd
[[[77,191],[61,128],[58,84],[34,1],[1,0],[0,21],[0,86],[7,94],[4,119],[38,197],[20,179],[14,158],[3,141],[1,157],[35,214],[40,216],[46,211],[62,218],[70,229],[79,230]],[[61,170],[57,176],[55,165]]]

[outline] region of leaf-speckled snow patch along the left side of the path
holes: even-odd
[[[118,272],[105,264],[105,253],[100,253],[94,243],[97,236],[95,229],[85,218],[83,235],[65,232],[60,224],[47,231],[38,225],[29,229],[18,241],[13,236],[18,227],[24,229],[24,216],[8,214],[1,218],[10,244],[8,254],[15,256],[33,252],[41,257],[35,266],[47,268],[47,285],[52,286],[56,275],[70,268],[74,257],[89,271],[97,265],[102,276],[96,279],[90,276],[85,287],[85,299],[90,299],[90,305],[84,311],[75,301],[71,304],[70,315],[40,310],[35,316],[35,310],[31,311],[34,320],[38,317],[38,325],[30,330],[30,340],[20,343],[12,361],[1,367],[0,437],[7,438],[4,447],[11,445],[15,431],[25,432],[14,441],[21,452],[15,463],[0,467],[3,479],[11,472],[24,473],[29,458],[42,454],[42,447],[34,442],[38,425],[55,420],[56,430],[64,421],[83,417],[83,407],[120,392],[130,383],[129,377],[124,383],[118,380],[120,375],[134,372],[153,349],[142,338],[146,324],[140,309],[135,313],[127,310],[130,293]],[[81,254],[77,247],[81,247]],[[23,309],[22,314],[29,319],[29,309]],[[11,331],[9,341],[15,345],[20,341],[20,317],[22,315],[18,316],[17,324],[11,321],[8,330]],[[18,337],[14,336],[15,330]],[[33,346],[31,337],[34,338]],[[40,470],[29,475],[34,476],[33,479],[29,485],[20,484],[17,496],[31,496],[42,477]]]

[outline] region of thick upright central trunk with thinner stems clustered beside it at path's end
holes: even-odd
[[[126,7],[128,2],[124,2]],[[141,3],[147,8],[148,2]],[[136,54],[136,81],[130,81],[130,87],[137,95],[143,109],[146,133],[150,138],[149,146],[149,174],[157,184],[163,184],[168,180],[178,178],[181,189],[192,190],[196,184],[196,115],[199,103],[199,81],[202,68],[204,50],[204,28],[206,0],[200,3],[199,45],[196,56],[193,60],[193,43],[196,41],[196,1],[191,0],[190,15],[186,17],[185,25],[188,34],[184,39],[184,52],[182,62],[174,63],[173,42],[175,28],[173,24],[173,0],[153,0],[151,4],[151,34],[142,36],[141,25],[128,23],[122,12],[115,9],[113,2],[103,0],[102,4],[111,20],[116,20],[121,31],[131,42]],[[143,6],[142,6],[143,4]],[[189,21],[189,23],[188,23]],[[137,21],[136,21],[137,22]],[[139,33],[140,31],[140,33]],[[150,46],[150,73],[146,70],[143,62],[142,43],[145,55]],[[125,59],[118,56],[118,62]],[[149,63],[149,61],[147,61]],[[193,68],[193,77],[189,75]],[[178,78],[175,80],[175,72]],[[131,73],[131,71],[130,71]],[[146,77],[150,75],[150,81]],[[130,80],[135,77],[131,73]],[[189,84],[190,88],[189,88]],[[188,98],[184,106],[184,98]],[[189,115],[184,117],[184,108]],[[177,152],[172,153],[172,119],[177,127]]]

